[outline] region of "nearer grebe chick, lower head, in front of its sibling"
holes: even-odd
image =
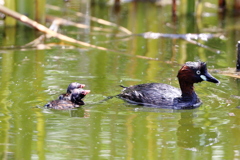
[[[53,109],[58,109],[58,110],[63,110],[63,109],[72,109],[72,108],[77,108],[80,105],[84,105],[85,103],[82,101],[82,99],[90,93],[90,90],[83,90],[81,88],[77,88],[71,91],[72,93],[70,94],[70,100],[68,99],[58,99],[49,102],[48,104],[45,105],[47,108],[53,108]]]

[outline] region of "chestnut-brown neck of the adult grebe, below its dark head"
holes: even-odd
[[[194,91],[192,82],[179,79],[180,88],[182,91],[182,101],[197,101],[197,94]]]

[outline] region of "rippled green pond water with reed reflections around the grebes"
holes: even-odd
[[[196,41],[206,48],[183,39],[126,36],[114,27],[104,32],[63,26],[61,33],[121,53],[67,44],[44,50],[1,49],[1,159],[240,159],[240,80],[217,71],[235,67],[239,17],[222,18],[216,9],[207,8],[201,18],[179,16],[174,21],[170,6],[126,3],[114,13],[112,6],[102,3],[80,7],[73,2],[58,2],[64,12],[47,9],[47,13],[104,28],[70,12],[80,8],[134,34],[217,36]],[[0,45],[6,48],[22,46],[39,36],[24,27],[2,25],[0,30]],[[60,41],[46,41],[52,43]],[[203,101],[197,109],[148,108],[117,98],[99,103],[119,94],[120,84],[159,82],[178,87],[176,75],[181,65],[197,60],[206,61],[209,72],[221,81],[220,85],[195,85]],[[64,93],[71,82],[83,83],[91,90],[86,105],[64,111],[43,107]]]

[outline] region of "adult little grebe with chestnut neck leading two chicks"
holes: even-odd
[[[205,62],[187,62],[178,72],[180,89],[162,83],[147,83],[131,87],[123,87],[118,95],[123,100],[150,107],[169,109],[196,108],[201,105],[194,91],[194,83],[208,81],[220,83],[207,71]]]

